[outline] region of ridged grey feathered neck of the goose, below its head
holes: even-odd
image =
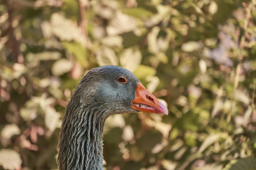
[[[103,170],[102,134],[106,109],[70,100],[59,138],[59,170]]]

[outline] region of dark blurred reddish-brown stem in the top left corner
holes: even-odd
[[[11,10],[11,7],[10,7],[10,4],[9,4],[9,0],[5,0],[5,4],[6,4],[6,7],[7,7],[7,12],[8,12],[8,19],[9,19],[9,34],[10,34],[10,41],[11,41],[11,44],[12,44],[12,52],[13,54],[17,57],[17,63],[23,63],[24,62],[24,58],[23,58],[23,55],[20,51],[20,47],[19,47],[19,44],[18,44],[18,41],[14,35],[14,28],[12,26],[12,23],[13,23],[13,18],[12,18],[12,10]]]

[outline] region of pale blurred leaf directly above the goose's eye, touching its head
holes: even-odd
[[[142,55],[139,50],[129,48],[123,51],[120,56],[120,64],[127,70],[134,72],[141,64]]]

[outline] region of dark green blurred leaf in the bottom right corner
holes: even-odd
[[[255,170],[256,159],[254,156],[230,161],[223,170]]]

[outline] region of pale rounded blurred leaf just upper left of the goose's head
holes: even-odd
[[[73,63],[65,58],[57,60],[52,65],[52,74],[54,76],[60,76],[64,73],[68,73],[73,68]]]

